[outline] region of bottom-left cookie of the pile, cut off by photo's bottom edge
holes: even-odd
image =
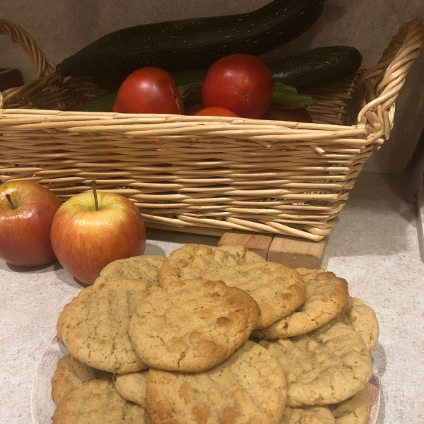
[[[95,379],[71,391],[52,420],[53,424],[151,424],[144,408],[119,396],[112,378]]]

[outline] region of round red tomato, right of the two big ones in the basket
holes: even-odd
[[[240,117],[259,119],[271,105],[272,92],[271,71],[261,59],[230,54],[206,72],[201,100],[205,107],[225,107]]]

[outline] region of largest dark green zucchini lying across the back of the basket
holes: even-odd
[[[273,0],[250,13],[124,28],[68,57],[57,65],[57,72],[119,79],[143,66],[202,69],[228,54],[263,54],[305,33],[321,15],[323,4],[324,0]]]

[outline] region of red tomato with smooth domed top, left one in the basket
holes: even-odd
[[[148,66],[137,69],[122,83],[113,111],[184,114],[184,105],[171,74]]]

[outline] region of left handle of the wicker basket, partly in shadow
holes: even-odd
[[[37,43],[19,25],[11,23],[6,19],[0,19],[0,35],[8,35],[13,42],[16,42],[25,50],[35,66],[37,78],[50,74],[50,69],[54,71],[56,66],[47,60],[45,54],[40,50]]]

